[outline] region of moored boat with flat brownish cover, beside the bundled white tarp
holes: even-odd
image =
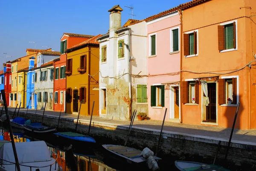
[[[146,162],[146,158],[140,155],[142,151],[136,148],[110,144],[104,144],[102,145],[102,147],[105,148],[111,154],[115,154],[116,158],[119,158],[120,160],[125,159],[126,162],[130,164]],[[154,159],[157,161],[160,160],[161,158],[154,156]]]

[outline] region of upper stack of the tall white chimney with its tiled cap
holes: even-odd
[[[121,28],[121,12],[123,9],[119,6],[113,6],[112,9],[108,10],[109,14],[109,32],[116,31]]]

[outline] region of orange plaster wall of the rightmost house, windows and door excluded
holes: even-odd
[[[252,2],[252,1],[251,1]],[[194,72],[218,72],[225,73],[238,70],[244,67],[248,62],[254,60],[251,57],[250,44],[250,22],[245,16],[247,6],[243,0],[212,0],[198,6],[194,6],[183,11],[183,32],[198,29],[198,56],[184,58],[183,70]],[[250,5],[252,6],[252,4]],[[256,7],[256,3],[253,2]],[[237,20],[237,50],[220,53],[218,50],[218,25],[228,21]],[[255,25],[255,24],[254,24]],[[254,26],[255,29],[255,26]],[[254,45],[255,46],[255,45]],[[183,49],[182,49],[183,50]],[[256,71],[254,71],[256,72]],[[232,76],[239,75],[239,114],[236,120],[236,128],[249,128],[249,93],[250,78],[248,67],[243,70],[230,74],[194,74],[191,72],[182,73],[182,81],[185,79],[209,77],[209,76]],[[218,84],[216,85],[218,92]],[[253,86],[255,95],[255,86]],[[183,106],[183,123],[201,124],[201,86],[199,86],[199,105]],[[216,96],[218,100],[218,96]],[[218,104],[218,126],[230,128],[233,125],[233,119],[236,107],[224,107]],[[253,109],[255,110],[255,109]],[[255,117],[253,117],[256,120]],[[256,125],[254,124],[254,127]]]

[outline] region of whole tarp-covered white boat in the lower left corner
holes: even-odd
[[[52,158],[44,141],[16,142],[20,171],[60,171],[61,167]],[[4,143],[0,148],[0,171],[15,171],[15,157],[12,143]]]

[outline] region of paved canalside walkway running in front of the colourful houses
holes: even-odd
[[[10,111],[14,111],[15,108],[9,107]],[[20,109],[20,111],[26,112],[26,109]],[[16,111],[17,112],[17,111]],[[35,110],[28,110],[29,113],[35,113]],[[37,113],[43,114],[43,110],[37,110]],[[45,111],[45,115],[52,115],[52,116],[59,116],[59,112],[55,111]],[[68,117],[77,119],[77,115],[74,114],[67,114],[61,113],[62,117]],[[82,120],[90,120],[90,116],[79,116],[79,119]],[[93,116],[92,122],[102,122],[106,124],[122,126],[122,125],[130,125],[130,121],[121,121],[121,120],[113,120],[113,119],[106,119],[99,116]],[[144,121],[134,121],[133,128],[145,128],[145,129],[154,129],[154,130],[161,130],[163,121],[157,120],[144,120]],[[164,122],[163,127],[164,132],[171,132],[175,134],[189,134],[191,136],[208,136],[211,139],[225,139],[226,141],[229,140],[231,128],[221,128],[215,126],[203,126],[203,125],[191,125],[191,124],[184,124],[184,123],[175,123],[175,122]],[[240,143],[244,144],[251,144],[256,145],[256,130],[238,130],[235,129],[233,132],[232,141],[239,141]]]

